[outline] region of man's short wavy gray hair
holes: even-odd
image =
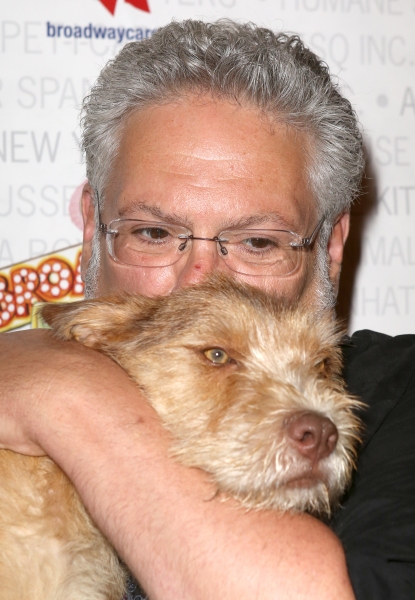
[[[104,67],[81,117],[87,177],[100,200],[129,115],[189,93],[257,107],[310,134],[309,182],[326,217],[320,243],[327,244],[334,219],[359,190],[364,160],[356,114],[298,36],[252,23],[172,22],[127,44]]]

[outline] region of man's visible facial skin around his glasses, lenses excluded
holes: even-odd
[[[227,101],[187,98],[141,110],[125,127],[101,220],[175,223],[205,238],[241,227],[288,229],[305,237],[318,220],[307,183],[307,149],[305,134],[271,126],[256,110]],[[88,189],[83,202],[86,262],[95,229]],[[146,268],[113,261],[104,238],[97,295],[165,295],[220,270],[288,298],[316,300],[315,250],[303,252],[300,267],[287,277],[253,277],[230,271],[211,241],[193,241],[171,266]]]

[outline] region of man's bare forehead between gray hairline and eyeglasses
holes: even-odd
[[[302,231],[315,219],[306,147],[303,134],[226,101],[144,109],[125,126],[106,214]]]

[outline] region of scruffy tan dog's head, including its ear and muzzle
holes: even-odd
[[[172,432],[174,454],[248,507],[329,513],[359,423],[331,314],[284,308],[215,277],[161,298],[50,305],[64,339],[109,354]]]

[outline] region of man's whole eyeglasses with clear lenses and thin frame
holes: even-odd
[[[194,240],[215,242],[219,256],[236,273],[285,277],[299,266],[302,251],[315,240],[323,216],[309,237],[279,229],[222,231],[213,238],[196,237],[186,227],[138,219],[100,221],[108,253],[113,260],[133,267],[174,265],[192,247]]]

